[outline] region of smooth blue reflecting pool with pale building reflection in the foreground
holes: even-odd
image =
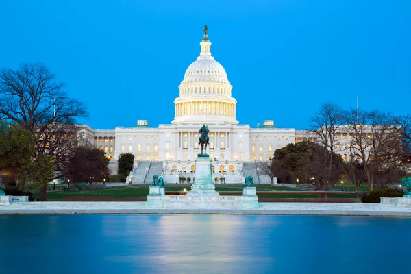
[[[359,216],[0,215],[0,273],[403,273],[410,227]]]

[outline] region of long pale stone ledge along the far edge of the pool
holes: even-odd
[[[260,208],[145,208],[144,202],[35,202],[0,206],[0,214],[261,214],[408,216],[411,208],[364,203],[260,203]]]

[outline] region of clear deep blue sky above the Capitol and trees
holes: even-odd
[[[325,101],[410,111],[411,1],[0,0],[0,68],[43,62],[95,129],[173,120],[208,25],[237,119],[305,129]]]

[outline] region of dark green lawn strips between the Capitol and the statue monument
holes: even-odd
[[[166,186],[167,191],[183,191],[190,190],[189,186]],[[258,186],[257,191],[278,191],[278,190],[298,190],[292,188],[282,188],[279,186]],[[242,186],[216,186],[216,191],[242,191]],[[48,201],[60,201],[66,197],[116,197],[116,198],[128,198],[128,197],[147,197],[149,194],[148,186],[118,186],[112,188],[97,188],[90,190],[71,190],[62,192],[47,192]],[[38,198],[40,193],[35,193],[34,197]],[[239,195],[238,193],[224,195]],[[301,193],[260,193],[258,197],[271,197],[271,198],[319,198],[324,197],[321,194],[301,194]],[[356,195],[349,195],[347,193],[329,193],[329,198],[356,198]]]

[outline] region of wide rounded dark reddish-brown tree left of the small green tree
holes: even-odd
[[[70,159],[66,177],[73,183],[103,182],[109,175],[108,162],[104,151],[79,147]]]

